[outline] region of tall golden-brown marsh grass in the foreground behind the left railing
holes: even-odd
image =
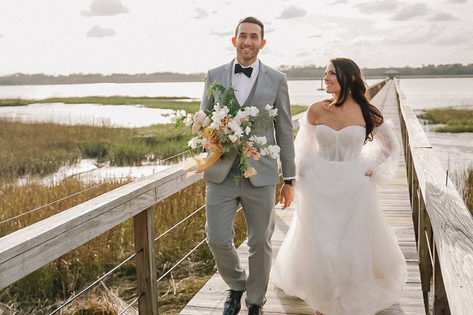
[[[0,224],[1,233],[2,235],[11,233],[115,187],[124,185],[126,182],[105,184],[67,201],[41,209],[31,215]],[[88,186],[90,185],[84,185],[73,178],[69,178],[53,188],[38,185],[9,187],[6,191],[2,190],[0,213],[5,218],[9,218],[24,212],[25,209],[65,196],[70,191],[85,189]],[[155,235],[163,233],[204,203],[205,183],[203,181],[182,189],[159,202],[153,207]],[[203,209],[155,244],[158,277],[205,237],[204,223],[205,211]],[[239,245],[246,238],[246,224],[242,212],[236,217],[235,229],[235,243]],[[56,303],[55,301],[67,300],[73,292],[78,292],[133,252],[135,252],[134,231],[133,220],[130,219],[0,291],[0,303],[16,305],[16,309],[21,310],[19,314],[26,314],[33,310],[35,310],[33,313],[36,313],[38,309],[47,308],[48,303],[49,305],[57,305],[59,302]],[[200,267],[189,268],[190,265],[195,263],[198,263]],[[160,292],[165,295],[160,299],[160,304],[167,306],[169,310],[182,308],[200,289],[199,285],[205,283],[213,274],[213,256],[207,245],[204,244],[192,254],[183,263],[182,268],[184,268],[184,271],[177,268],[173,272],[174,276],[172,278],[164,279],[162,284],[159,285]],[[133,260],[120,268],[105,283],[118,288],[127,282],[135,284],[135,262]],[[169,287],[171,288],[170,292]],[[177,296],[173,293],[176,289],[178,291]],[[135,293],[134,290],[124,292],[125,296],[123,298],[127,299]]]

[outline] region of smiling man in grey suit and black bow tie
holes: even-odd
[[[236,101],[241,106],[256,106],[261,112],[267,104],[277,108],[274,123],[268,119],[265,124],[255,124],[255,134],[266,136],[267,146],[277,144],[281,148],[280,161],[284,177],[280,202],[283,209],[294,200],[294,144],[291,106],[286,76],[258,60],[258,52],[266,40],[264,26],[254,17],[239,21],[235,37],[236,59],[230,63],[209,70],[205,81],[201,109],[211,110],[217,93],[207,97],[209,85],[217,81],[226,88],[233,86]],[[274,202],[276,185],[279,183],[277,162],[269,155],[258,161],[249,158],[250,166],[257,175],[241,178],[238,185],[233,181],[241,174],[239,157],[234,153],[230,159],[221,159],[204,173],[206,181],[205,230],[207,242],[215,256],[217,269],[230,290],[225,301],[223,314],[236,315],[240,300],[246,290],[246,306],[249,315],[260,315],[266,302],[266,290],[271,269],[271,235],[274,230]],[[249,273],[241,267],[233,239],[234,219],[238,203],[243,207],[247,224],[249,246]]]

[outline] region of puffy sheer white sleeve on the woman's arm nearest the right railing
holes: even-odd
[[[363,148],[376,184],[392,180],[398,168],[400,145],[393,127],[391,120],[383,122],[376,128],[373,141]]]

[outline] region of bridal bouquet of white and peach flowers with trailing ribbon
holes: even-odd
[[[228,158],[230,150],[234,149],[240,157],[238,166],[241,175],[234,178],[238,184],[241,176],[249,178],[257,174],[254,167],[250,167],[248,158],[259,160],[261,156],[266,155],[270,155],[271,158],[279,157],[280,148],[277,145],[265,146],[266,137],[254,134],[256,118],[268,115],[274,120],[277,109],[267,104],[266,111],[260,113],[254,106],[241,107],[235,101],[234,89],[232,87],[226,89],[217,82],[209,86],[206,95],[210,97],[217,90],[220,91],[220,95],[212,110],[200,110],[195,115],[178,110],[171,117],[171,121],[174,123],[174,130],[184,124],[196,135],[187,144],[191,156],[194,156],[199,145],[211,153],[208,158],[193,158],[184,169],[197,166],[197,170],[192,173],[203,172],[219,158]]]

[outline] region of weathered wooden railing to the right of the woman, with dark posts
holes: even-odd
[[[399,83],[399,82],[397,82]],[[424,304],[429,314],[473,314],[473,218],[396,85]]]

